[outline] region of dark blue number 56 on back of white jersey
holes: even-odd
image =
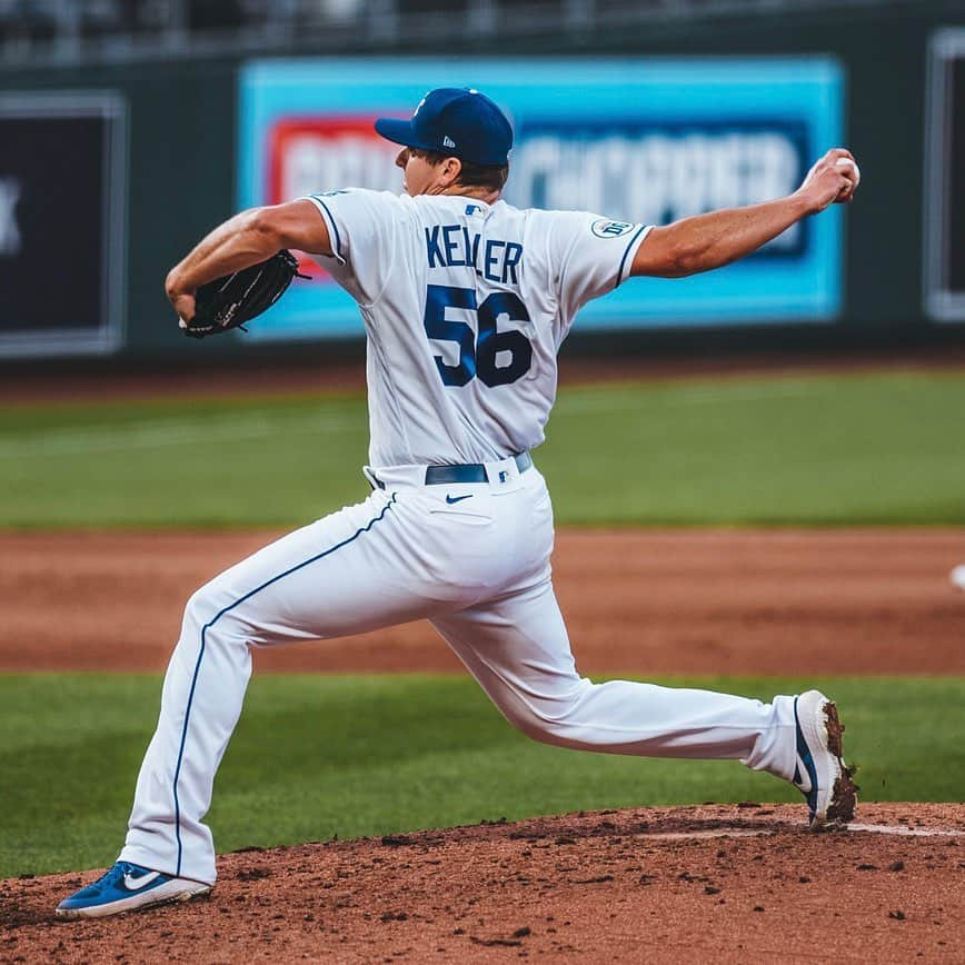
[[[477,314],[479,337],[475,344],[472,328],[465,321],[447,320],[447,308],[462,308]],[[510,321],[529,321],[526,306],[511,291],[494,291],[477,306],[476,292],[471,288],[429,286],[426,295],[426,335],[455,341],[459,346],[459,361],[454,366],[446,365],[442,356],[436,356],[436,367],[445,385],[465,386],[478,375],[489,388],[508,386],[529,371],[533,346],[521,331],[497,331],[496,322],[503,315]],[[496,365],[499,352],[509,354],[508,365]]]

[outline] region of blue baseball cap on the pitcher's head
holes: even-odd
[[[411,120],[379,118],[376,130],[397,145],[474,165],[505,165],[513,147],[513,128],[506,115],[485,93],[468,87],[430,90]]]

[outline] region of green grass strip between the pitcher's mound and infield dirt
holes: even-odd
[[[692,679],[769,698],[800,680]],[[865,800],[965,797],[965,678],[817,683],[838,700]],[[0,676],[0,877],[108,865],[157,719],[150,676]],[[580,808],[800,800],[733,762],[527,740],[460,677],[256,678],[215,788],[219,850]]]

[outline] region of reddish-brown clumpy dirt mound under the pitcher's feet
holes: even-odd
[[[92,875],[0,883],[0,961],[962,961],[965,805],[597,812],[226,855],[212,896],[100,922]]]

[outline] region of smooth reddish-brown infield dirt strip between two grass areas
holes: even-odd
[[[0,535],[0,671],[162,670],[190,593],[278,535]],[[734,676],[965,674],[963,560],[965,529],[566,530],[553,558],[583,673]],[[425,623],[255,664],[461,671]]]

